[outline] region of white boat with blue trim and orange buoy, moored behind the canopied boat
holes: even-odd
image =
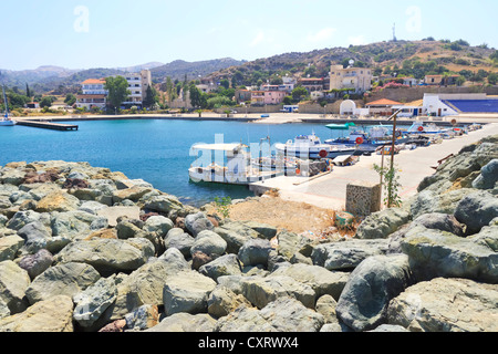
[[[294,140],[288,140],[286,144],[276,144],[277,152],[286,156],[294,156],[302,159],[333,158],[340,155],[351,155],[356,149],[352,146],[322,144],[320,138],[314,135],[299,135]]]

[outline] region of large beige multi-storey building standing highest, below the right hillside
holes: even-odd
[[[330,90],[354,88],[362,93],[372,88],[372,70],[369,67],[346,67],[332,65],[330,70]]]

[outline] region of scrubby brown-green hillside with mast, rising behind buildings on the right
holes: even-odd
[[[483,70],[498,73],[498,62],[490,59],[495,49],[470,46],[465,41],[397,41],[350,48],[332,48],[312,52],[291,52],[258,59],[242,65],[214,72],[207,79],[236,77],[237,84],[257,84],[259,80],[274,80],[277,75],[326,76],[331,64],[372,67],[375,75],[392,74],[423,79],[426,74],[457,73],[470,80]]]

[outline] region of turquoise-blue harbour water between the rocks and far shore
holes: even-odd
[[[73,124],[73,123],[72,123]],[[98,121],[77,122],[77,132],[56,132],[24,126],[0,127],[0,165],[10,162],[87,162],[95,167],[142,178],[155,188],[179,197],[186,204],[201,205],[215,197],[245,198],[245,186],[195,184],[188,168],[196,159],[190,147],[215,143],[286,143],[297,135],[315,133],[322,140],[338,137],[322,124],[260,125],[212,121]]]

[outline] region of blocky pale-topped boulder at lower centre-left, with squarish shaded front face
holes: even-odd
[[[166,315],[178,312],[206,313],[216,282],[196,271],[181,271],[166,281],[163,301]]]

